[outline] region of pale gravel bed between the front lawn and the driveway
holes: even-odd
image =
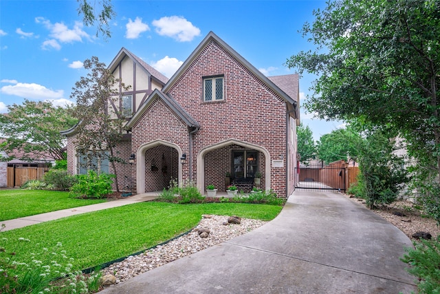
[[[122,262],[111,264],[102,269],[102,275],[114,275],[116,284],[118,284],[168,262],[248,233],[265,223],[267,222],[262,220],[242,218],[240,224],[228,224],[228,216],[204,215],[197,227],[190,233],[140,255],[129,256]],[[198,229],[209,229],[208,237],[201,238]]]

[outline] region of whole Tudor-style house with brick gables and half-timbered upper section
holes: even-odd
[[[225,174],[244,192],[261,174],[261,188],[288,197],[295,187],[297,74],[267,77],[210,32],[168,80],[122,48],[109,70],[130,91],[120,106],[130,117],[118,147],[120,189],[162,191],[170,179],[192,180],[200,191],[225,191]],[[72,174],[84,173],[75,128],[67,136]],[[131,164],[129,164],[131,158]],[[99,169],[114,171],[108,162]]]

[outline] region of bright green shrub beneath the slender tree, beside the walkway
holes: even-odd
[[[107,174],[96,174],[95,171],[89,171],[87,175],[78,175],[78,182],[71,188],[72,197],[76,198],[103,198],[111,193],[111,184],[113,176]]]

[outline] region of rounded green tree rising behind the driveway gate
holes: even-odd
[[[358,147],[362,138],[351,127],[333,130],[321,136],[317,144],[318,158],[329,164],[333,161],[358,157]]]

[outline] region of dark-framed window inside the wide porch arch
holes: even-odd
[[[259,170],[258,155],[256,150],[232,151],[232,177],[254,178]]]

